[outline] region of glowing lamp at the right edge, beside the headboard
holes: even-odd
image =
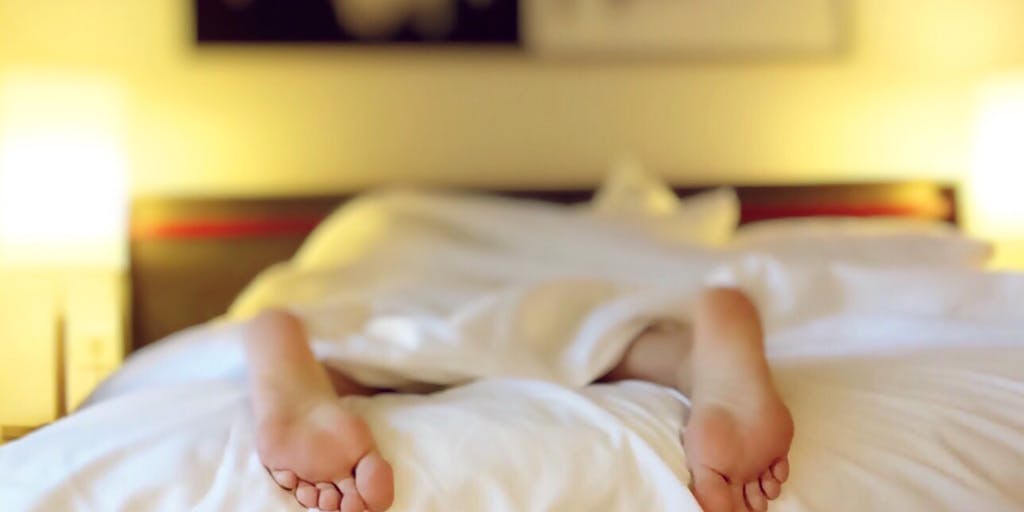
[[[1024,268],[1024,74],[982,88],[967,199],[968,229],[996,244],[993,266]]]

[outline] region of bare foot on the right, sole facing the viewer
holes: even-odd
[[[790,476],[793,419],[760,333],[708,334],[694,337],[693,407],[683,434],[694,495],[706,512],[764,512]]]

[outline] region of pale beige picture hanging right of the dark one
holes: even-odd
[[[831,53],[847,0],[521,0],[523,38],[556,56]]]

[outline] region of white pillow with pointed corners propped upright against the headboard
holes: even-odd
[[[627,163],[611,170],[589,212],[659,242],[721,246],[739,223],[739,199],[718,188],[680,200],[664,180]]]

